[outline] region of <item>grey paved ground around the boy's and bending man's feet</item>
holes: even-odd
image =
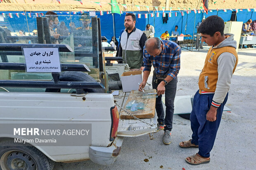
[[[198,90],[198,76],[203,68],[205,56],[206,50],[182,52],[176,95],[194,95]],[[185,158],[197,153],[198,149],[178,147],[179,142],[191,138],[192,131],[189,120],[174,115],[172,142],[169,145],[162,142],[163,130],[154,133],[154,140],[149,140],[148,135],[125,137],[119,158],[113,165],[102,166],[92,161],[56,163],[54,170],[255,169],[253,158],[256,155],[256,50],[239,50],[238,56],[237,69],[232,77],[226,103],[232,110],[223,112],[210,163],[193,166],[185,162]],[[146,158],[148,162],[144,161]]]

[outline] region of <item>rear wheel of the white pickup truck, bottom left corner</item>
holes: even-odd
[[[52,170],[54,163],[31,144],[0,142],[0,170]]]

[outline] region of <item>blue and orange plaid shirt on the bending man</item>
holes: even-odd
[[[180,70],[181,49],[178,44],[171,41],[161,40],[161,43],[163,45],[161,54],[156,57],[150,56],[144,46],[143,62],[145,68],[143,71],[151,71],[153,63],[157,75],[169,75],[175,79]]]

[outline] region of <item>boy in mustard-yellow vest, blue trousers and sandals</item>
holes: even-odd
[[[198,147],[199,152],[185,161],[192,165],[210,162],[210,151],[216,138],[231,78],[237,66],[237,42],[233,34],[224,35],[224,21],[209,16],[197,28],[202,41],[211,48],[199,75],[199,90],[194,95],[190,114],[192,139],[180,142],[181,148]]]

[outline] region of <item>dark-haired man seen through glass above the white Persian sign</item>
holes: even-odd
[[[48,24],[49,24],[49,29],[50,29],[50,35],[53,36],[56,40],[52,40],[52,44],[59,44],[59,39],[60,34],[55,33],[55,28],[57,28],[59,24],[59,19],[58,19],[58,14],[52,11],[46,12],[45,16],[49,19]]]

